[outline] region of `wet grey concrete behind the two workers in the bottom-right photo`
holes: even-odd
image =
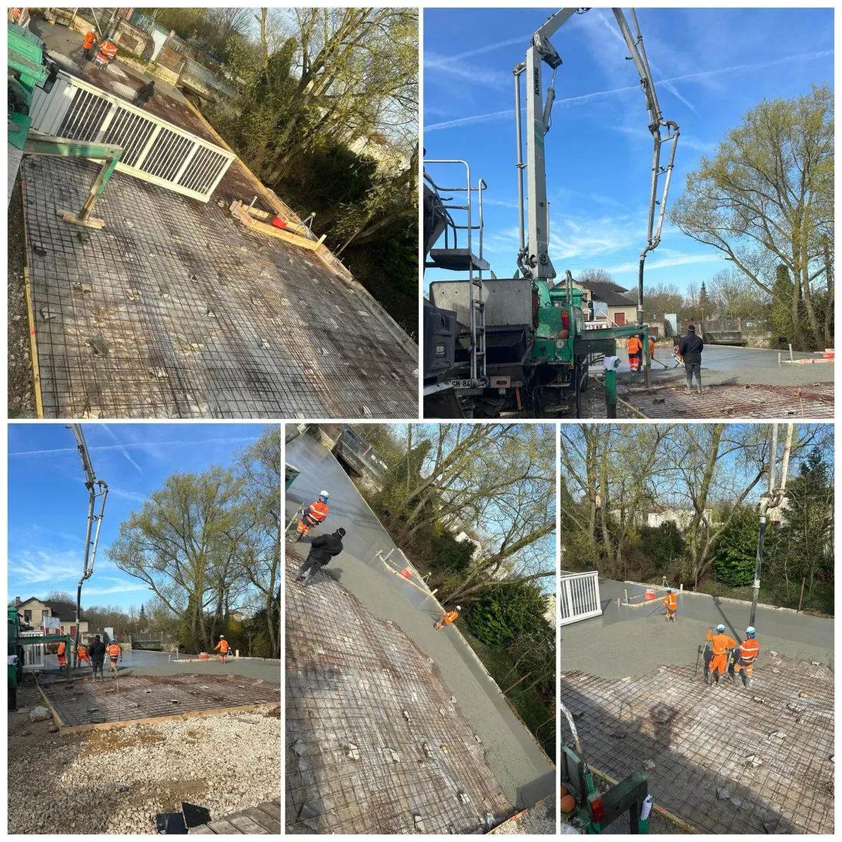
[[[617,598],[642,594],[641,586],[600,578],[603,614],[561,631],[561,666],[581,669],[602,678],[623,678],[647,673],[659,666],[695,663],[708,628],[723,623],[737,642],[745,639],[750,605],[718,600],[706,594],[677,594],[676,621],[668,623],[658,613],[658,602],[632,608],[617,605]],[[757,669],[768,663],[770,650],[789,658],[834,660],[834,621],[791,611],[758,607],[754,620],[760,654]],[[700,669],[702,659],[699,658]]]

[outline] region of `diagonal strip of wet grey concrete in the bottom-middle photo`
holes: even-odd
[[[328,520],[315,533],[347,532],[344,552],[328,570],[374,616],[391,620],[440,669],[445,685],[456,695],[462,715],[476,729],[486,748],[486,759],[518,809],[529,807],[555,788],[555,770],[531,734],[520,724],[498,686],[482,669],[477,657],[455,630],[434,630],[439,614],[435,600],[401,578],[388,573],[376,557],[378,550],[397,548],[382,529],[338,461],[311,436],[302,435],[286,448],[286,461],[301,474],[285,498],[289,520],[303,503],[311,503],[322,488],[330,493]],[[301,546],[301,551],[306,549]],[[308,587],[317,588],[318,579]],[[287,588],[299,585],[286,582]]]

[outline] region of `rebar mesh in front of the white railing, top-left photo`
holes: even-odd
[[[56,207],[98,165],[24,157],[45,417],[416,415],[416,360],[312,253],[232,219],[235,170],[207,205],[115,173],[94,231]]]

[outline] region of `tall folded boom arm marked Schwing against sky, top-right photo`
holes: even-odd
[[[529,49],[526,51],[526,61],[514,68],[515,89],[515,119],[517,120],[518,147],[518,204],[520,253],[518,266],[526,277],[534,280],[552,280],[556,277],[549,255],[549,214],[546,202],[546,158],[544,152],[544,136],[550,131],[552,104],[556,98],[555,78],[558,67],[562,65],[561,56],[550,42],[550,37],[573,17],[574,14],[584,14],[588,8],[562,8],[552,14],[546,23],[532,35]],[[637,279],[637,324],[643,323],[643,264],[649,252],[658,248],[663,226],[663,215],[666,210],[669,180],[672,176],[675,145],[678,141],[679,127],[673,120],[663,120],[658,95],[649,70],[646,51],[643,48],[643,38],[637,24],[637,15],[631,10],[634,35],[626,21],[626,15],[621,8],[613,9],[614,16],[623,40],[626,42],[637,72],[640,85],[646,99],[648,113],[648,128],[653,136],[652,181],[649,191],[649,214],[647,221],[647,244],[640,255],[640,267]],[[552,69],[552,80],[543,97],[541,83],[541,63],[546,63]],[[522,146],[520,138],[520,75],[526,73],[526,163],[522,160]],[[663,133],[666,130],[666,133]],[[662,167],[660,163],[661,145],[671,143],[669,163]],[[529,199],[527,210],[527,237],[524,237],[524,190],[523,171],[526,170],[528,179],[527,195]],[[658,200],[658,178],[665,175],[663,194]],[[655,222],[655,207],[660,205],[657,226]]]

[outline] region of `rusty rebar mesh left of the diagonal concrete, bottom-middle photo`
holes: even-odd
[[[293,583],[300,563],[288,545],[288,832],[470,833],[510,814],[434,664],[333,578]]]

